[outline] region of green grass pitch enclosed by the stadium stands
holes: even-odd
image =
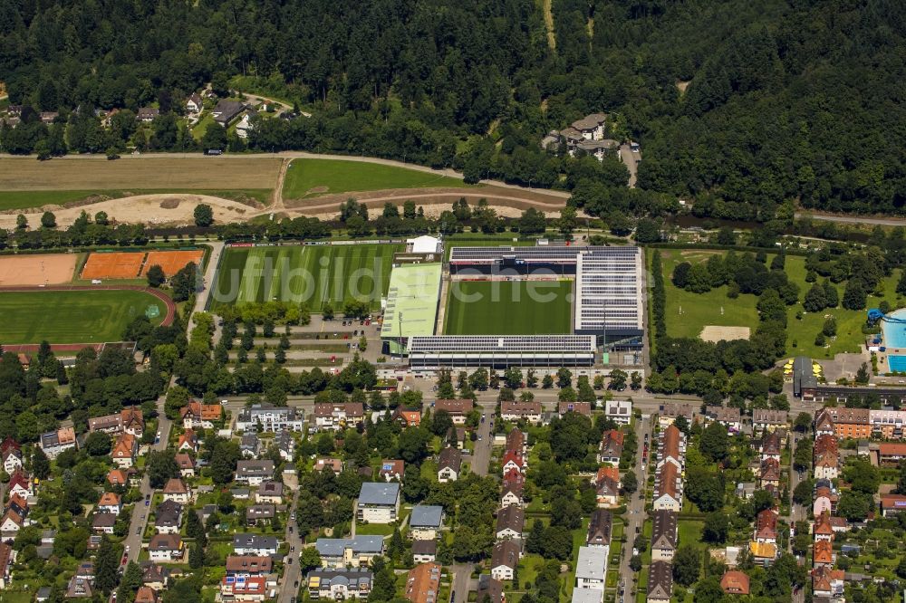
[[[570,333],[572,302],[571,281],[452,282],[444,333],[447,335]]]

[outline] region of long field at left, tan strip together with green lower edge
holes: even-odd
[[[267,203],[280,159],[216,157],[0,158],[0,209],[63,205],[92,196],[203,193]],[[163,185],[164,187],[161,187]]]

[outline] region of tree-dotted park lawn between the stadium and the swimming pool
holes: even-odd
[[[676,264],[705,262],[708,255],[721,253],[698,249],[660,250],[664,269],[664,286],[667,292],[667,331],[671,337],[698,337],[706,325],[745,326],[751,330],[757,328],[756,296],[744,294],[731,300],[727,297],[728,287],[726,285],[707,293],[693,293],[677,289],[670,281]],[[769,254],[768,263],[772,258],[773,255]],[[786,273],[792,282],[799,285],[801,301],[805,297],[805,292],[812,286],[812,283],[805,282],[805,257],[788,256]],[[899,278],[900,270],[895,270],[892,276],[884,281],[883,299],[891,302],[893,306],[897,305],[895,288]],[[836,288],[842,299],[845,283],[837,284]],[[881,299],[869,296],[868,307],[877,307]],[[832,358],[834,354],[841,352],[858,351],[863,345],[862,325],[865,322],[865,311],[844,310],[842,307],[837,307],[817,313],[804,312],[801,320],[796,319],[798,311],[802,311],[801,303],[790,306],[788,310],[786,341],[788,354],[803,354],[815,359]],[[814,337],[822,329],[825,315],[833,315],[836,318],[837,336],[834,340],[828,341],[826,348],[818,348],[814,345]]]

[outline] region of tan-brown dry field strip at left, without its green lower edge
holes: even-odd
[[[282,159],[219,157],[0,158],[0,190],[226,190],[273,188]]]

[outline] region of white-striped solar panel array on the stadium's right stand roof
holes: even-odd
[[[576,265],[575,330],[641,330],[641,252],[598,247]]]

